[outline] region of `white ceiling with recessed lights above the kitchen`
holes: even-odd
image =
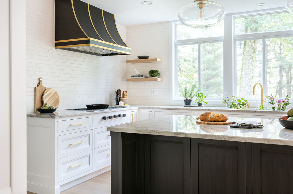
[[[151,6],[142,5],[145,0],[83,0],[93,6],[113,13],[116,22],[124,26],[150,24],[179,20],[179,10],[192,2],[192,0],[151,0],[155,4]],[[213,0],[221,4],[228,13],[238,13],[260,9],[285,7],[285,0]],[[256,4],[265,3],[258,7]]]

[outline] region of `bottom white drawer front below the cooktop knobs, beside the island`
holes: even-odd
[[[105,164],[111,164],[111,145],[95,149],[95,168]]]

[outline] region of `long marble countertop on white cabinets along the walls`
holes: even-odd
[[[214,106],[206,106],[206,107],[185,107],[185,106],[154,106],[154,105],[134,105],[123,107],[123,109],[109,109],[102,111],[94,111],[94,112],[86,112],[86,111],[67,111],[67,110],[59,110],[54,113],[40,114],[39,112],[27,113],[28,117],[39,117],[39,118],[63,118],[63,117],[71,117],[71,116],[82,116],[82,115],[91,115],[97,113],[104,112],[112,112],[119,110],[131,110],[131,109],[157,109],[157,110],[180,110],[180,111],[217,111],[217,112],[242,112],[242,113],[274,113],[274,114],[282,114],[285,115],[287,111],[260,111],[256,110],[256,108],[251,108],[248,110],[235,110],[227,107],[214,107]]]

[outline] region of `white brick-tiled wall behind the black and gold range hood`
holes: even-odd
[[[27,0],[27,112],[34,111],[34,87],[43,78],[60,97],[59,110],[85,104],[114,104],[126,90],[126,56],[105,56],[54,48],[54,0]],[[126,41],[126,27],[117,24]]]

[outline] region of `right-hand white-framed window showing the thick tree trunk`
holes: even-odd
[[[293,15],[276,13],[235,18],[236,95],[253,98],[252,88],[263,85],[263,95],[292,97]],[[273,31],[273,32],[270,32]],[[244,34],[245,40],[241,35]],[[260,93],[255,97],[260,99]]]

